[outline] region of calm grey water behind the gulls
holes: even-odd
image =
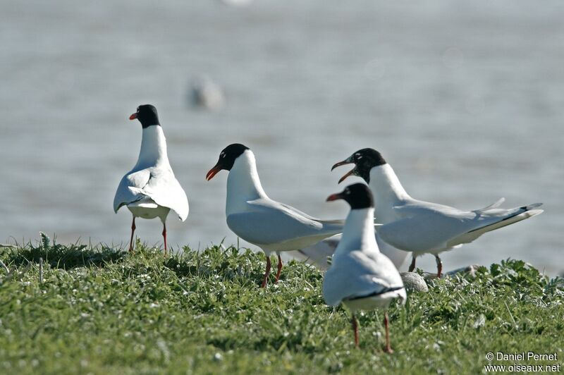
[[[446,269],[508,257],[564,270],[564,3],[544,1],[4,1],[0,13],[0,241],[126,245],[112,211],[137,159],[138,104],[157,106],[190,199],[171,244],[235,241],[226,173],[204,176],[243,142],[266,192],[323,218],[345,168],[379,149],[419,199],[477,209],[544,202],[541,216],[443,255]],[[226,107],[192,109],[207,74]],[[350,180],[353,182],[353,180]],[[161,241],[158,221],[137,234]],[[434,269],[433,257],[419,266]]]

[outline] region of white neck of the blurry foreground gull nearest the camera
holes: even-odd
[[[335,254],[351,250],[378,249],[374,236],[374,208],[351,209],[343,228],[343,237],[339,242]]]

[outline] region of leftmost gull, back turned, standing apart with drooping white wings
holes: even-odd
[[[166,154],[166,139],[159,123],[157,109],[145,104],[137,107],[130,120],[140,121],[143,128],[141,150],[137,164],[125,174],[114,197],[114,211],[127,206],[133,214],[129,251],[133,251],[135,218],[154,219],[163,223],[164,254],[166,256],[166,216],[173,211],[181,221],[188,217],[188,198],[174,177]]]

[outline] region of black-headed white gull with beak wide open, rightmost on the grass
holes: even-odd
[[[503,228],[517,221],[541,214],[541,203],[513,209],[498,209],[505,199],[474,211],[413,199],[407,194],[392,167],[375,149],[360,149],[348,159],[333,166],[355,164],[339,180],[360,176],[366,181],[376,200],[376,217],[383,226],[376,238],[406,252],[412,252],[409,271],[415,269],[415,258],[434,254],[437,277],[441,277],[443,263],[439,253],[470,243],[491,230]],[[331,168],[331,170],[333,170]]]

